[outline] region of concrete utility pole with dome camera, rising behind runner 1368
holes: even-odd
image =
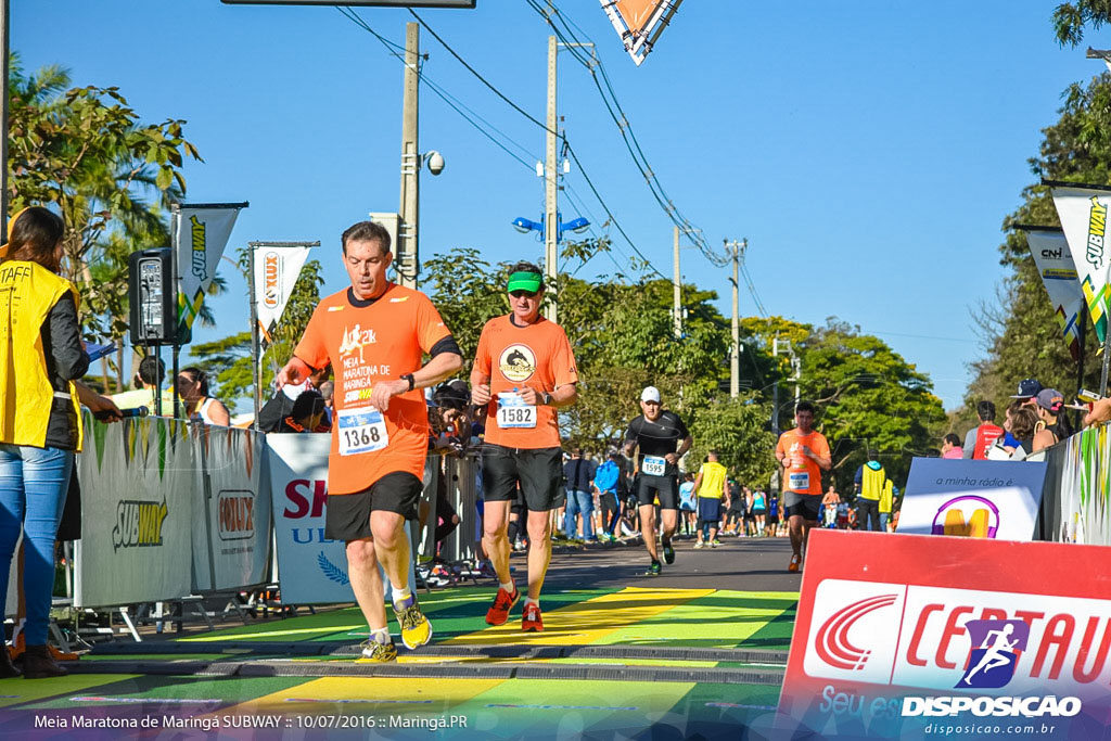
[[[417,140],[420,97],[420,24],[406,23],[404,98],[401,114],[401,223],[398,224],[398,281],[417,288],[420,272],[418,224],[420,223],[421,157]]]

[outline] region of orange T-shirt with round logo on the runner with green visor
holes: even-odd
[[[496,317],[482,328],[474,368],[490,377],[490,404],[486,420],[486,441],[504,448],[537,450],[559,448],[559,419],[552,407],[539,404],[534,417],[522,418],[528,427],[499,427],[499,394],[513,389],[551,393],[557,387],[575,383],[579,371],[567,333],[559,324],[539,319],[527,327],[512,322],[512,314]],[[510,422],[502,418],[508,424]]]

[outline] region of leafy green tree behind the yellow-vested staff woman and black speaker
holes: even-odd
[[[183,159],[200,159],[184,122],[143,123],[118,88],[70,88],[59,67],[26,74],[14,56],[9,103],[11,211],[42,204],[61,213],[67,277],[81,289],[86,331],[120,341],[127,256],[169,244],[167,213],[184,193]]]

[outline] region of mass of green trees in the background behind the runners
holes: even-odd
[[[506,269],[470,249],[424,264],[429,296],[460,340],[468,364],[482,326],[507,311],[501,288]],[[683,287],[687,316],[683,334],[675,339],[670,281],[584,281],[561,274],[558,284],[560,324],[580,373],[579,401],[560,413],[570,444],[601,451],[619,443],[640,413],[641,390],[655,385],[664,405],[692,432],[692,468],[714,449],[742,481],[767,483],[774,468],[773,381],[781,384],[784,429],[793,405],[790,358],[771,354],[778,337],[799,353],[803,394],[823,407],[821,421],[831,443],[845,438],[835,453],[839,477],[851,479],[855,459],[868,451],[889,457],[893,475],[904,477],[910,455],[937,448],[944,413],[929,379],[881,340],[854,328],[830,323],[815,331],[779,317],[745,318],[741,377],[750,390],[733,400],[728,394],[729,322],[713,307],[713,292]]]

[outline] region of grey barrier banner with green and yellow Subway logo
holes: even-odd
[[[199,491],[190,425],[146,417],[86,429],[77,469],[82,538],[73,558],[74,605],[186,597]]]

